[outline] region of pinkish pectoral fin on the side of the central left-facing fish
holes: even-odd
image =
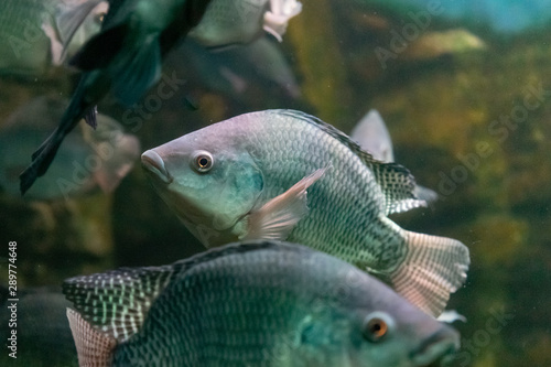
[[[325,170],[316,170],[251,213],[247,234],[240,239],[287,239],[296,223],[307,214],[306,190],[323,176]]]

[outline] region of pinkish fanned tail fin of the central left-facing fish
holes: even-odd
[[[398,293],[424,312],[437,316],[450,293],[466,279],[468,248],[458,240],[404,230],[408,255],[391,274]]]

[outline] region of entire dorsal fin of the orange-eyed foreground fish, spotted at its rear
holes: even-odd
[[[65,280],[63,293],[89,325],[119,343],[138,333],[159,294],[190,268],[231,253],[274,248],[309,251],[278,241],[245,241],[210,249],[170,266],[121,268]]]

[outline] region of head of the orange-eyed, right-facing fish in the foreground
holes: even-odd
[[[313,262],[327,265],[323,259]],[[334,269],[336,278],[318,287],[323,301],[312,302],[299,324],[298,346],[289,360],[307,366],[436,367],[453,359],[460,345],[456,331],[350,268]]]

